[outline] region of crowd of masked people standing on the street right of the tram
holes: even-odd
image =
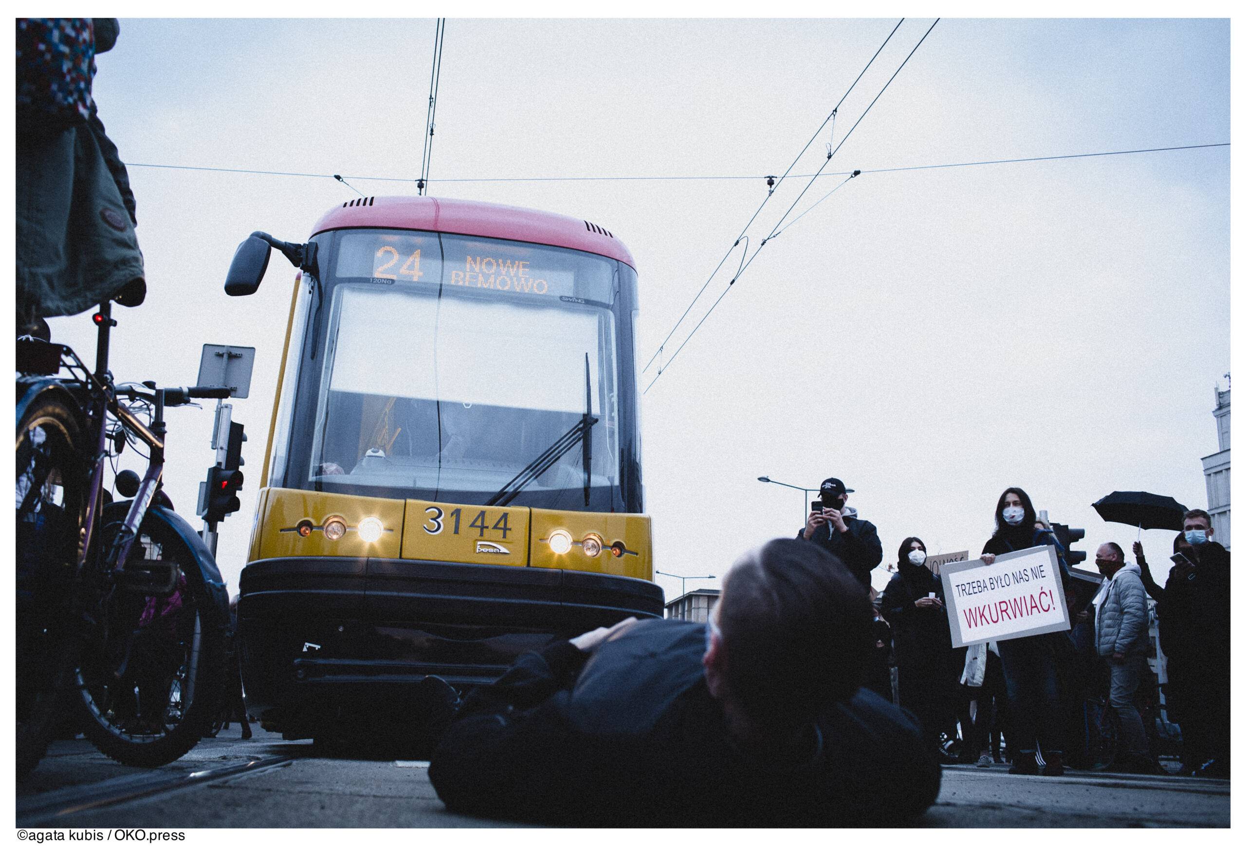
[[[827,478],[797,537],[835,553],[868,584],[882,547],[877,528],[846,505],[851,492]],[[1038,518],[1025,491],[1009,487],[996,505],[994,532],[981,557],[989,566],[1001,554],[1054,546],[1070,629],[953,648],[942,579],[926,566],[922,539],[906,537],[895,576],[876,599],[867,684],[890,695],[893,664],[896,701],[917,718],[941,763],[987,768],[1007,755],[1011,772],[1032,775],[1104,765],[1094,754],[1101,741],[1089,736],[1083,710],[1103,689],[1119,725],[1108,766],[1166,772],[1158,763],[1154,714],[1141,704],[1154,690],[1150,594],[1168,658],[1168,715],[1181,728],[1182,771],[1226,777],[1229,552],[1212,535],[1207,512],[1184,515],[1172,547],[1182,557],[1175,557],[1165,587],[1153,579],[1140,543],[1133,563],[1120,546],[1103,543],[1094,562],[1103,582],[1098,592],[1079,594],[1052,527]]]

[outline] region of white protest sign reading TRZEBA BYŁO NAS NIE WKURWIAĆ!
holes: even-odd
[[[953,647],[1069,628],[1055,547],[1009,552],[989,566],[974,558],[939,569]]]

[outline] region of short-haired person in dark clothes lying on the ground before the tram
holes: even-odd
[[[900,825],[938,792],[916,723],[860,682],[866,591],[776,539],[709,624],[621,623],[520,657],[432,755],[451,811],[573,826]]]

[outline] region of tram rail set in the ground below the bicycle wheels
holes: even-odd
[[[289,755],[273,755],[193,772],[137,772],[88,785],[61,787],[20,799],[16,809],[17,827],[59,825],[71,821],[74,815],[83,811],[122,805],[157,794],[189,790],[253,772],[268,772],[293,763],[294,759]]]

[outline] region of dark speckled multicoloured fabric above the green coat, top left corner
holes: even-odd
[[[95,32],[90,17],[17,19],[17,108],[66,126],[91,117]]]

